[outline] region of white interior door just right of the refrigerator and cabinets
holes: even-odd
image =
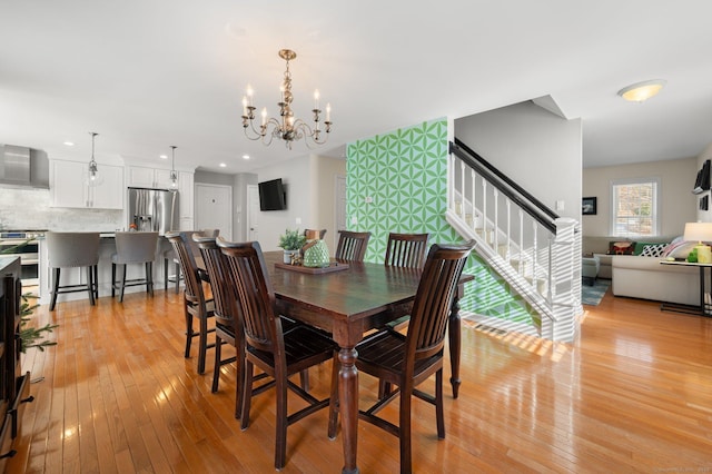
[[[220,236],[233,240],[233,188],[196,184],[196,229],[220,229]]]

